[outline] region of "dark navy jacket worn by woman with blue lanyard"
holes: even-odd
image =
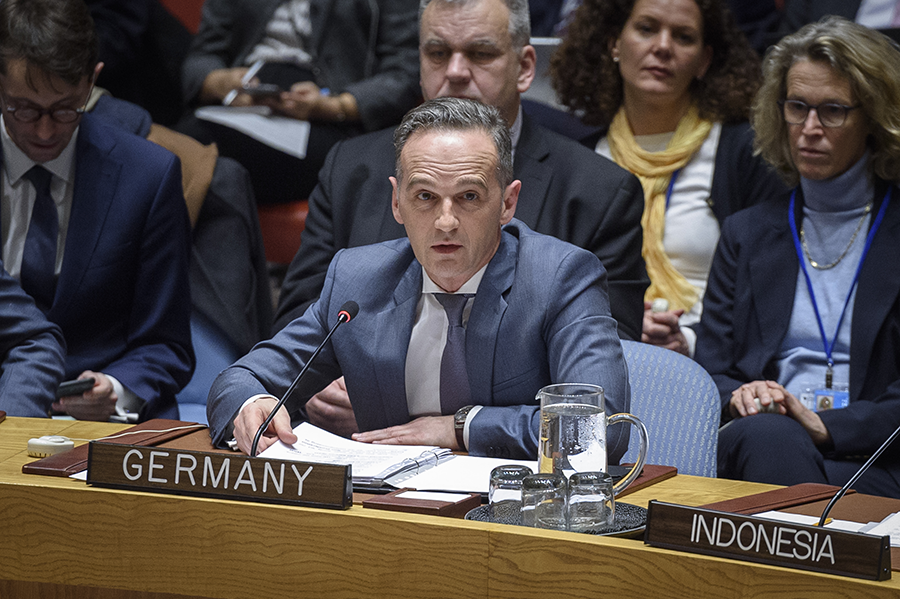
[[[879,185],[876,191],[876,212],[885,189]],[[797,196],[801,199],[802,193]],[[796,210],[799,223],[801,201]],[[856,290],[850,405],[819,413],[838,457],[870,455],[900,425],[898,255],[900,191],[895,188]],[[775,358],[790,323],[799,268],[787,196],[725,223],[703,300],[696,353],[697,361],[713,375],[723,407],[742,383],[777,379]],[[894,464],[896,476],[900,461]]]

